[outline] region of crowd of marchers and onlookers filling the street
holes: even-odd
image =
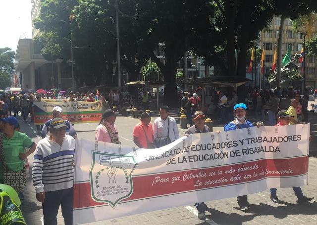
[[[190,94],[184,92],[181,98],[181,114],[185,114],[190,128],[184,135],[209,133],[211,130],[205,125],[208,116],[217,116],[224,125],[224,131],[244,129],[252,126],[260,127],[262,122],[255,124],[246,120],[248,106],[238,103],[235,91],[227,96],[225,91],[214,91],[211,105],[208,109],[202,106],[202,90],[198,89]],[[303,98],[299,93],[289,93],[292,97],[288,110],[280,110],[281,91],[253,91],[250,99],[253,101],[253,109],[257,117],[264,119],[264,110],[267,111],[270,126],[286,126],[305,122],[308,116],[305,113],[308,105],[308,91]],[[142,95],[148,96],[144,91]],[[191,96],[190,96],[191,95]],[[35,97],[35,98],[34,98]],[[128,96],[126,96],[128,97]],[[63,112],[58,106],[52,110],[53,119],[47,121],[42,127],[37,126],[42,139],[36,144],[30,137],[19,132],[19,112],[23,116],[23,122],[28,120],[28,114],[32,122],[32,107],[34,101],[42,98],[50,98],[41,94],[33,95],[9,95],[2,96],[0,101],[0,183],[12,186],[23,199],[23,187],[26,185],[26,167],[24,160],[33,152],[34,164],[32,168],[32,180],[36,190],[36,199],[43,205],[44,224],[56,224],[56,215],[61,205],[65,225],[72,224],[72,198],[74,176],[74,152],[77,133],[71,122],[62,119]],[[57,96],[58,99],[58,96]],[[120,105],[121,99],[125,99],[123,93],[110,91],[105,94],[87,93],[76,95],[72,92],[60,95],[59,99],[67,101],[95,101],[102,100],[103,114],[95,131],[95,140],[121,144],[119,131],[115,125],[116,114],[112,105]],[[255,100],[254,100],[255,99]],[[251,105],[251,104],[250,104]],[[11,108],[10,108],[11,107]],[[13,116],[11,110],[13,110]],[[169,107],[162,105],[159,109],[159,118],[153,125],[151,116],[147,112],[141,114],[140,122],[133,128],[133,141],[140,148],[153,149],[165,146],[180,137],[176,120],[169,116]],[[204,112],[205,111],[205,112]],[[231,112],[231,113],[229,113]],[[232,113],[233,112],[233,113]],[[217,131],[219,133],[220,131]],[[53,179],[52,179],[53,178]],[[306,197],[300,187],[293,187],[299,203],[314,199]],[[270,199],[280,203],[276,188],[270,189]],[[248,196],[238,196],[238,205],[242,211],[248,210],[250,204]],[[198,218],[205,220],[207,205],[204,202],[196,203]]]

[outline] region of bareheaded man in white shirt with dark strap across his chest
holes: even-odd
[[[154,121],[153,133],[157,147],[164,146],[179,138],[179,132],[176,121],[168,116],[169,108],[162,105],[159,109],[159,118]],[[162,141],[163,138],[169,138],[168,141]],[[168,143],[169,142],[169,143]],[[162,144],[163,143],[163,144]]]

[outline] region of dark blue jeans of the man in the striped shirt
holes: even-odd
[[[65,225],[73,224],[73,188],[47,191],[45,201],[42,203],[44,225],[57,225],[57,213],[59,205]]]

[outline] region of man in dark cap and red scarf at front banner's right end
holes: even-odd
[[[275,126],[286,126],[289,124],[290,120],[291,120],[291,115],[285,111],[285,110],[281,110],[277,113],[277,124]],[[311,138],[310,138],[311,140]],[[306,197],[303,192],[301,187],[293,187],[293,190],[295,192],[295,195],[297,196],[297,201],[298,203],[303,203],[303,202],[309,202],[312,201],[314,199],[313,198],[308,198]],[[270,189],[271,192],[271,197],[270,199],[272,200],[272,202],[274,203],[281,203],[280,200],[278,199],[277,195],[276,195],[276,188],[271,188]]]

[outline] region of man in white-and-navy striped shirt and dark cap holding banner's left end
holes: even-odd
[[[63,119],[52,119],[50,137],[40,140],[35,150],[32,177],[36,199],[42,202],[44,225],[57,225],[59,205],[65,225],[73,221],[75,139],[65,135],[66,129]]]

